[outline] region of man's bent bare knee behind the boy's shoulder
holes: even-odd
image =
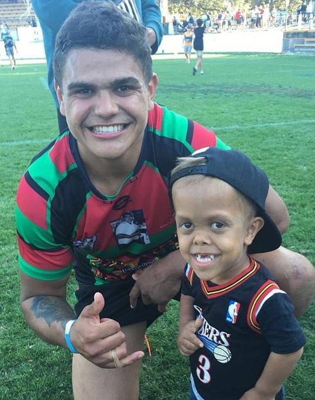
[[[307,258],[284,247],[254,255],[277,278],[294,303],[300,317],[310,306],[315,292],[315,270]]]

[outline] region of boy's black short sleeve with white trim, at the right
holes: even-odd
[[[259,329],[274,353],[294,353],[306,343],[293,310],[287,293],[277,288],[271,290],[259,305],[256,315]]]

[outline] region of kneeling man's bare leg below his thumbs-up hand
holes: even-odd
[[[146,323],[122,328],[128,353],[143,350]],[[75,400],[138,400],[141,361],[116,369],[102,369],[79,354],[73,356],[72,383]]]

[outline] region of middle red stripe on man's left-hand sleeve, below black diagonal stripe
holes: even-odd
[[[32,201],[29,201],[30,198]],[[47,229],[47,202],[29,186],[24,176],[17,190],[16,203],[26,218],[40,228]]]

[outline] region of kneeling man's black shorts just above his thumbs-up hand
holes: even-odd
[[[144,305],[141,296],[138,298],[136,308],[130,308],[129,293],[134,284],[133,279],[128,279],[100,286],[80,285],[75,292],[78,299],[75,305],[77,317],[86,305],[93,302],[94,293],[100,292],[105,299],[105,307],[100,313],[101,318],[112,318],[121,326],[143,321],[147,321],[147,327],[150,326],[161,313],[156,304]],[[174,298],[179,299],[178,293]]]

